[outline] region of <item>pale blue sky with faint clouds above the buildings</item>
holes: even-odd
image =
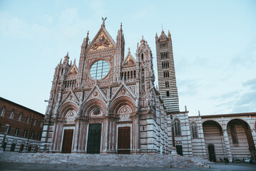
[[[107,17],[135,57],[142,36],[172,35],[180,110],[188,115],[256,112],[256,1],[0,0],[0,96],[45,113],[54,68],[78,60]],[[126,56],[126,55],[125,55]],[[157,77],[155,85],[157,85]]]

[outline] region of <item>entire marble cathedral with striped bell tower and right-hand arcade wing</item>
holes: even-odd
[[[143,37],[132,56],[122,24],[116,41],[105,19],[93,41],[87,33],[78,66],[68,54],[56,66],[41,150],[254,157],[256,113],[188,117],[179,109],[170,31],[156,34],[155,44],[159,90]]]

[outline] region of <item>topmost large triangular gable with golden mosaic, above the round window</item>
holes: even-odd
[[[101,29],[98,31],[90,46],[88,47],[88,51],[98,51],[113,47],[116,47],[115,41],[113,41],[113,38],[111,38],[108,31],[106,31],[106,28],[101,26]]]

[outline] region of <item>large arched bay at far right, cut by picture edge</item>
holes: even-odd
[[[255,158],[255,143],[250,126],[240,119],[233,119],[227,123],[227,134],[233,158]]]

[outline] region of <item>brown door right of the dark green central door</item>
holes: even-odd
[[[118,128],[118,154],[130,154],[130,127]]]

